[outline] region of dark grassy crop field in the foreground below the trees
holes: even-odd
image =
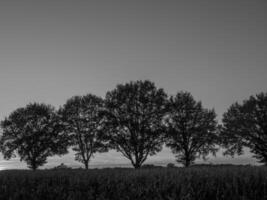
[[[10,170],[1,200],[267,200],[267,167]]]

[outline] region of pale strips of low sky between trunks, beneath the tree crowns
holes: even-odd
[[[236,165],[260,165],[255,158],[251,158],[252,154],[248,149],[245,149],[245,155],[235,156],[223,156],[222,151],[219,151],[216,157],[210,155],[207,160],[197,159],[196,164],[236,164]],[[249,155],[249,156],[248,156]],[[40,167],[40,169],[51,169],[55,166],[64,163],[72,168],[84,167],[82,163],[74,160],[74,152],[70,150],[69,154],[64,156],[54,156],[47,159],[47,164]],[[166,166],[168,163],[174,163],[177,166],[181,164],[175,160],[175,155],[172,154],[169,148],[164,147],[163,150],[157,153],[155,156],[150,156],[144,164],[153,164]],[[89,168],[109,168],[109,167],[132,167],[130,161],[122,156],[121,153],[114,150],[110,150],[108,153],[97,153],[91,159]],[[19,158],[13,158],[10,160],[0,160],[0,169],[26,169],[27,165],[24,161],[20,162]]]

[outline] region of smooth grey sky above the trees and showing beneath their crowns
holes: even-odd
[[[56,108],[74,95],[104,97],[119,83],[149,79],[170,95],[189,91],[222,114],[267,91],[265,0],[0,1],[0,118],[30,102]],[[255,164],[246,153],[207,162]],[[49,158],[81,166],[73,153]],[[175,162],[164,148],[147,163]],[[128,165],[120,153],[91,166]],[[0,169],[25,168],[0,156]]]

